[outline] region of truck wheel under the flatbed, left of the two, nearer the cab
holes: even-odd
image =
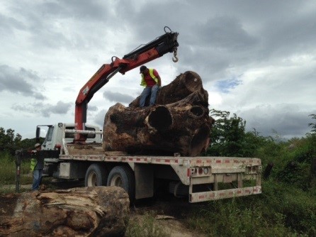
[[[106,186],[106,180],[108,178],[108,171],[103,165],[92,164],[86,170],[86,177],[84,179],[84,186],[96,187]]]

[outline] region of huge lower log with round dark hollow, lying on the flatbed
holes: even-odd
[[[103,149],[137,155],[199,155],[209,145],[213,118],[205,94],[145,109],[112,106],[104,119]]]

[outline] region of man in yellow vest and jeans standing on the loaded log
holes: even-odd
[[[140,107],[145,106],[145,101],[150,95],[149,106],[153,106],[156,102],[157,93],[162,86],[162,79],[160,78],[157,70],[153,68],[147,68],[145,65],[140,67],[140,74],[142,81],[140,85],[145,87],[140,95]]]

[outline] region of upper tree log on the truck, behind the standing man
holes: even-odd
[[[159,89],[156,104],[172,104],[186,98],[193,92],[200,92],[203,103],[208,105],[208,92],[203,89],[202,79],[196,72],[187,71],[181,73],[170,84]],[[137,97],[129,104],[129,107],[136,108],[140,104],[140,97]],[[149,98],[145,105],[149,104]]]

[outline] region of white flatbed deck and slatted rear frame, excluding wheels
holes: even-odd
[[[151,155],[60,155],[64,162],[121,162],[135,165],[171,166],[181,183],[188,186],[189,202],[241,197],[261,193],[259,158],[181,157]],[[194,187],[210,184],[210,189],[195,192]],[[231,186],[231,187],[228,187]],[[247,187],[246,187],[247,186]]]

